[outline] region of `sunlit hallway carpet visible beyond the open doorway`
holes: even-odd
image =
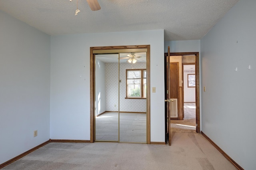
[[[195,103],[184,103],[184,120],[171,120],[171,132],[196,133]]]

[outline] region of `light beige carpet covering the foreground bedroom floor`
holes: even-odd
[[[236,170],[201,134],[172,136],[172,146],[49,143],[2,170]]]

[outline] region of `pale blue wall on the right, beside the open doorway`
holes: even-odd
[[[202,131],[245,170],[256,167],[255,6],[240,0],[201,40]]]

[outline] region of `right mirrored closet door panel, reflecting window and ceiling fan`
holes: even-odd
[[[146,52],[120,53],[119,141],[146,143]]]

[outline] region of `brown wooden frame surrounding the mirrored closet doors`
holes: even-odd
[[[90,143],[95,141],[95,54],[99,50],[109,50],[117,52],[118,50],[129,50],[146,48],[146,70],[147,70],[147,98],[146,98],[146,143],[150,144],[150,45],[135,46],[100,46],[90,47]]]

